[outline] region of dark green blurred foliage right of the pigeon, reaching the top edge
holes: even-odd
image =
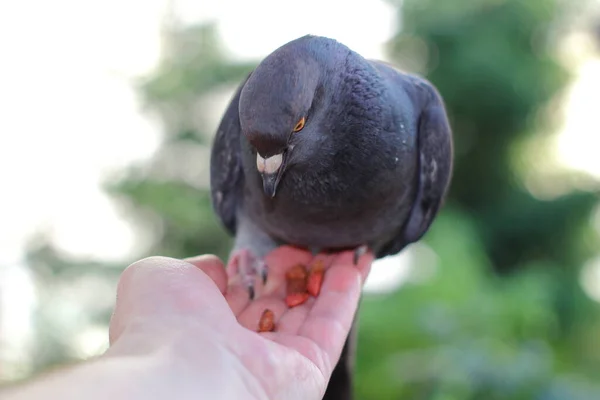
[[[498,270],[545,258],[577,267],[580,227],[595,205],[589,193],[558,201],[534,198],[513,165],[514,144],[552,133],[536,114],[560,94],[567,72],[553,59],[555,0],[409,0],[405,29],[392,42],[398,60],[418,38],[429,54],[427,77],[442,93],[454,129],[456,160],[449,202],[475,217]],[[432,10],[435,9],[435,12]],[[540,154],[530,155],[543,157]],[[565,253],[567,251],[567,253]],[[559,253],[559,254],[556,254]]]

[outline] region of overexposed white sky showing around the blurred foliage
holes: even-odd
[[[0,2],[0,267],[18,265],[25,239],[39,229],[74,254],[120,259],[130,253],[134,234],[99,184],[107,173],[150,157],[158,145],[158,127],[140,113],[128,79],[156,63],[166,7],[167,0]],[[244,59],[307,33],[383,58],[381,44],[395,24],[392,9],[379,0],[352,7],[347,0],[182,0],[175,9],[186,22],[217,20],[223,43]],[[599,61],[584,64],[579,74],[560,154],[600,176]],[[393,262],[407,265],[408,258]],[[369,288],[389,288],[405,275],[406,268],[390,262],[374,268]],[[15,304],[27,307],[27,301],[15,302],[6,288],[23,277],[15,268],[0,272],[3,303],[15,315],[7,321],[3,311],[4,323],[19,332],[27,313]]]

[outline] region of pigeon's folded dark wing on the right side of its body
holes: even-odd
[[[398,253],[427,232],[440,209],[452,171],[452,131],[443,100],[433,85],[414,76],[406,76],[417,119],[418,176],[411,212],[402,229],[378,252],[377,257]]]

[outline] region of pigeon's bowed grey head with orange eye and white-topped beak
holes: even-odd
[[[312,39],[312,40],[311,40]],[[252,72],[240,94],[242,134],[256,151],[264,193],[275,197],[287,169],[308,163],[322,137],[325,38],[302,38],[277,49]]]

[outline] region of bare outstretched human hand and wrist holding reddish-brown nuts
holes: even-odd
[[[285,271],[309,252],[270,253],[250,300],[214,256],[151,257],[122,274],[102,356],[1,393],[5,400],[321,399],[358,307],[372,254],[319,256],[321,293],[288,309]],[[265,308],[276,330],[257,333]]]

